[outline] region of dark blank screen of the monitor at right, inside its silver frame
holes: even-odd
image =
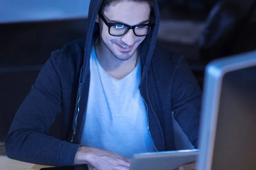
[[[223,77],[212,170],[256,168],[256,66]]]

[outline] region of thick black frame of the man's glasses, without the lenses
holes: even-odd
[[[103,16],[103,14],[102,14],[101,11],[99,11],[99,17],[101,17],[101,19],[102,19],[103,22],[106,24],[106,26],[108,26],[108,33],[109,33],[110,35],[114,36],[114,37],[121,37],[121,36],[123,36],[124,34],[126,34],[130,29],[133,30],[134,34],[135,34],[137,37],[144,37],[144,36],[148,35],[148,34],[153,30],[153,28],[154,28],[154,26],[155,26],[155,23],[140,24],[140,25],[136,25],[136,26],[129,26],[129,25],[120,24],[120,23],[108,23],[108,21],[105,19],[105,17]],[[127,29],[123,34],[121,34],[121,35],[113,35],[113,34],[110,33],[110,28],[111,28],[112,26],[116,26],[116,25],[118,25],[118,26],[126,26],[128,29]],[[136,28],[136,27],[139,27],[139,26],[150,26],[150,31],[148,31],[148,33],[145,34],[145,35],[137,35],[137,34],[135,33],[135,28]]]

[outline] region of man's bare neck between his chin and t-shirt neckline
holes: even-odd
[[[126,61],[117,59],[99,37],[95,42],[95,51],[102,68],[115,79],[122,79],[130,74],[136,67],[140,58],[138,57],[138,51],[136,51],[133,56]]]

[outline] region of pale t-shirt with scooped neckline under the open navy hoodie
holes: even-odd
[[[92,48],[90,88],[81,144],[131,158],[154,152],[148,116],[140,95],[140,62],[123,79],[109,76]]]

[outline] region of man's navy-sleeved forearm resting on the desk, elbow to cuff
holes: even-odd
[[[79,146],[34,130],[15,130],[6,141],[6,155],[34,164],[74,165]]]

